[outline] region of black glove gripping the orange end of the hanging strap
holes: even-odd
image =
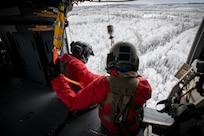
[[[48,65],[48,76],[50,80],[53,80],[54,78],[58,77],[61,74],[61,64],[60,59],[57,58],[55,64],[53,61],[50,62]]]

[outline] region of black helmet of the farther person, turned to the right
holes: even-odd
[[[90,55],[94,56],[92,46],[84,42],[72,42],[71,43],[72,55],[80,59],[84,63],[87,63]]]

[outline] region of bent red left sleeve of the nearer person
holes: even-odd
[[[93,104],[101,103],[109,92],[108,80],[105,76],[95,79],[76,94],[71,90],[63,75],[53,79],[51,84],[52,89],[70,111],[81,110]]]

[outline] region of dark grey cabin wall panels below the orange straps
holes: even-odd
[[[52,59],[53,31],[22,30],[1,32],[2,42],[10,49],[9,56],[15,63],[14,66],[21,69],[16,72],[21,71],[33,81],[48,84],[47,66]],[[17,55],[12,55],[13,52],[18,54],[17,58]]]

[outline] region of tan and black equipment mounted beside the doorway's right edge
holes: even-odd
[[[184,97],[185,95],[196,90],[201,97],[204,96],[204,61],[195,60],[192,66],[184,63],[175,76],[180,80],[173,87],[169,97],[157,103],[157,105],[164,104],[164,108],[158,110],[159,112],[166,112],[173,117],[179,116],[185,109],[197,102],[189,100],[191,95],[189,95],[190,98]]]

